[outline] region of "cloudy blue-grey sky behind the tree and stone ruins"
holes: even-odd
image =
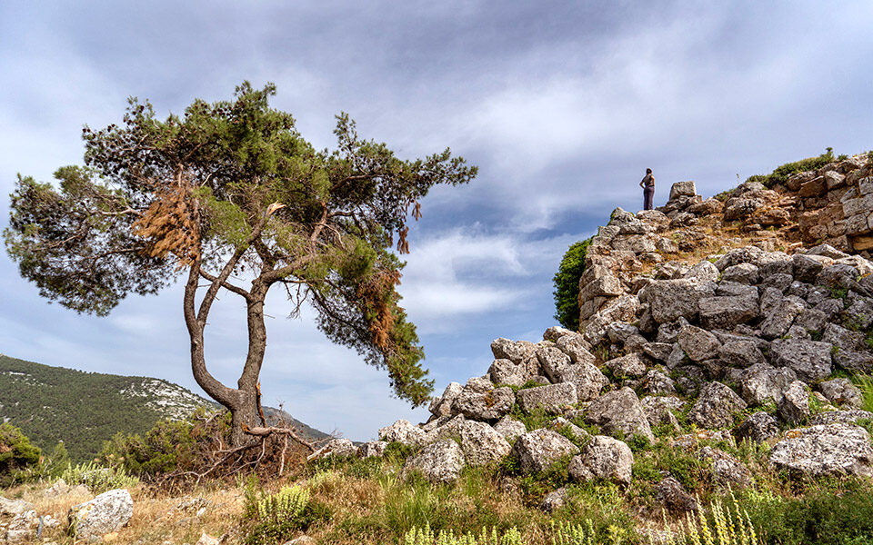
[[[0,225],[17,173],[50,181],[82,163],[83,125],[118,123],[128,96],[163,115],[274,82],[316,148],[334,115],[403,158],[450,147],[479,167],[439,187],[410,232],[401,303],[440,393],[487,372],[497,337],[555,325],[567,247],[621,206],[647,167],[656,205],[695,180],[704,196],[818,155],[873,148],[873,3],[40,2],[0,3]],[[203,394],[191,375],[181,285],[129,296],[108,317],[40,298],[0,253],[0,352],[146,375]],[[209,369],[236,383],[244,309],[218,302]],[[312,313],[268,299],[266,404],[353,440],[427,418],[386,374],[326,341]]]

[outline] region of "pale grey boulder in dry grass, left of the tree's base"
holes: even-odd
[[[70,508],[67,519],[76,540],[100,539],[121,530],[134,515],[134,500],[125,489],[106,491]]]

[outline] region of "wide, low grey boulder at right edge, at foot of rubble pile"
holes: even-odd
[[[863,428],[827,424],[788,431],[770,452],[777,468],[818,475],[873,475],[873,447]]]

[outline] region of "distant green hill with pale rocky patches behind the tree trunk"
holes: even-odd
[[[179,420],[203,406],[218,408],[163,379],[76,371],[0,354],[0,418],[43,451],[64,441],[74,461],[95,457],[118,431],[142,434],[156,421]],[[311,440],[327,436],[285,411],[264,411],[270,420],[290,421]]]

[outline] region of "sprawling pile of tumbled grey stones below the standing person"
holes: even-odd
[[[858,163],[847,183],[867,183],[868,166]],[[808,175],[829,180],[840,169]],[[858,421],[873,414],[858,410],[861,391],[834,372],[873,370],[873,263],[828,244],[776,251],[763,235],[756,245],[679,259],[706,236],[695,230],[702,218],[721,214],[756,233],[793,221],[785,211],[797,198],[745,183],[725,202],[704,200],[683,182],[658,210],[617,209],[587,250],[579,332],[556,326],[541,342],[495,340],[483,376],[450,383],[428,421],[396,421],[356,454],[381,455],[392,441],[414,446],[404,472],[431,481],[507,456],[522,472],[568,458],[577,481],[624,484],[636,437],[693,453],[714,485],[736,489],[754,481],[748,468],[698,443],[768,441],[774,468],[870,475],[873,449]],[[789,232],[798,235],[797,225]],[[656,439],[653,428],[682,431],[677,414],[697,431]],[[527,429],[518,418],[545,423]],[[328,443],[319,455],[351,450]],[[665,475],[658,485],[665,505],[697,509],[675,481]],[[562,494],[550,494],[544,509]]]

